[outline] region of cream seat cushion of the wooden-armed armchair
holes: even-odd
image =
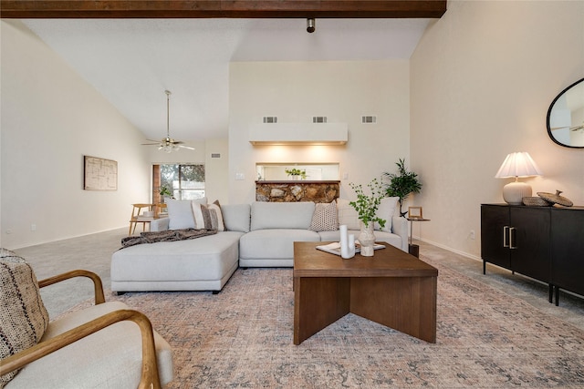
[[[42,341],[106,313],[124,309],[128,306],[123,302],[105,302],[67,313],[50,322]],[[172,349],[156,332],[154,343],[161,383],[167,384],[172,381]],[[134,322],[117,322],[27,364],[6,389],[136,387],[140,381],[141,361],[140,328]]]

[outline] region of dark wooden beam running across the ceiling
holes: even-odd
[[[446,0],[0,0],[0,17],[439,18]]]

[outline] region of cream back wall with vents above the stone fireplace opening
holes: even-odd
[[[230,69],[229,200],[255,200],[256,162],[339,162],[341,197],[349,182],[366,184],[409,160],[409,62],[244,62]],[[361,116],[376,115],[363,125]],[[265,116],[278,123],[347,123],[346,146],[252,146],[249,126]],[[245,179],[236,180],[243,173]],[[347,177],[347,179],[345,179]]]

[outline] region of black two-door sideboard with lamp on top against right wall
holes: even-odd
[[[481,257],[559,290],[584,296],[584,208],[481,204]]]

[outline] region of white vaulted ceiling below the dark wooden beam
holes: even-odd
[[[146,138],[227,136],[229,63],[409,58],[434,19],[27,19]]]

